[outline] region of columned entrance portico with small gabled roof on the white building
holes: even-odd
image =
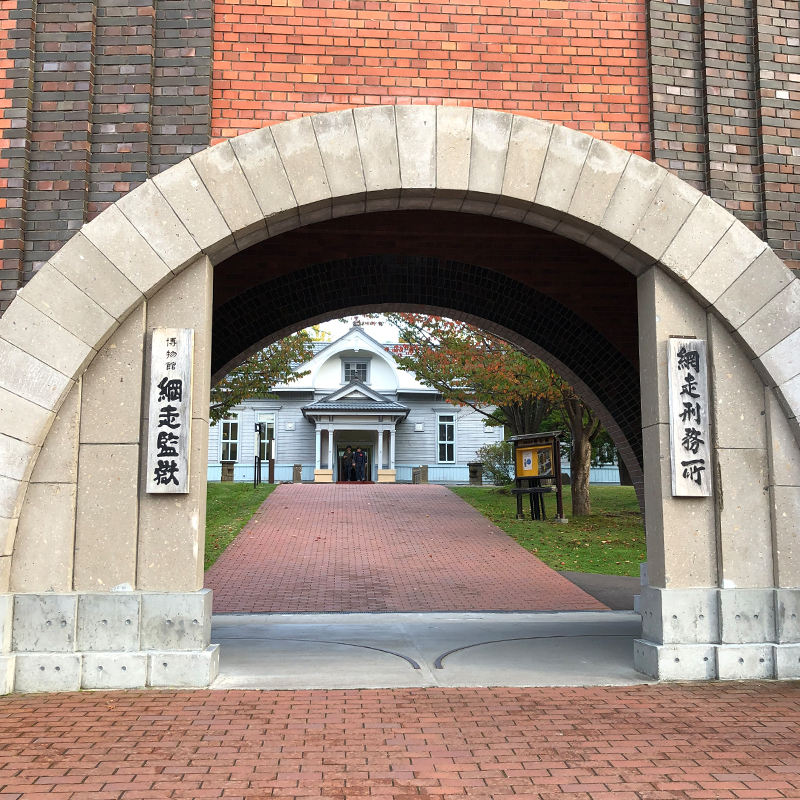
[[[375,470],[377,482],[394,483],[395,427],[410,410],[387,400],[358,379],[305,406],[303,416],[315,428],[314,482],[346,480],[339,474],[337,446],[349,444],[355,450],[365,440],[374,447],[368,463]]]

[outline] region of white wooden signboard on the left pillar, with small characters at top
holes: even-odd
[[[194,331],[155,328],[150,353],[147,493],[188,494]]]

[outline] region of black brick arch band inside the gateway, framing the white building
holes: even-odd
[[[641,488],[636,367],[562,303],[474,264],[373,254],[313,264],[252,286],[214,310],[212,380],[311,322],[388,310],[427,311],[472,322],[542,358],[595,408]]]

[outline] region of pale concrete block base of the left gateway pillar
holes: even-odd
[[[204,688],[219,672],[210,589],[2,597],[13,627],[0,693]]]

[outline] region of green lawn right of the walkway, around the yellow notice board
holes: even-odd
[[[639,562],[647,559],[642,516],[631,486],[592,486],[592,515],[570,518],[567,525],[551,522],[555,494],[545,498],[547,521],[534,522],[527,498],[523,508],[528,519],[516,518],[517,500],[508,487],[458,486],[453,491],[553,569],[635,577]],[[565,516],[571,507],[565,486]]]

